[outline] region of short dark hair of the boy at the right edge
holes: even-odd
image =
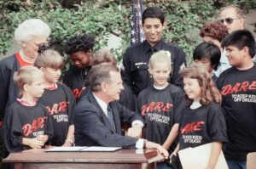
[[[221,42],[221,47],[225,48],[227,46],[234,46],[241,50],[244,47],[249,48],[249,54],[253,58],[255,54],[255,39],[253,37],[253,34],[250,31],[247,30],[239,30],[239,31],[233,31],[224,38],[224,40]]]

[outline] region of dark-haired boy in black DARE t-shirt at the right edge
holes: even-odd
[[[256,151],[255,39],[250,31],[234,31],[221,45],[232,65],[217,81],[229,138],[224,155],[230,168],[245,169],[247,153]]]

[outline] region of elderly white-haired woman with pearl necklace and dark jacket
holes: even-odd
[[[15,71],[22,66],[33,65],[39,48],[44,47],[49,34],[49,25],[39,19],[25,20],[15,30],[15,41],[20,44],[21,50],[0,61],[0,127],[4,111],[19,95],[13,80]]]

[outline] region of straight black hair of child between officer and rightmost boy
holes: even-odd
[[[195,47],[193,53],[194,60],[201,60],[204,58],[209,59],[214,70],[218,69],[220,56],[220,49],[217,45],[211,42],[201,42],[197,47]]]

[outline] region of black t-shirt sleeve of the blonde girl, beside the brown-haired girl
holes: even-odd
[[[179,123],[181,119],[181,114],[185,105],[185,96],[182,89],[179,89],[176,93],[172,93],[174,101],[174,124]]]

